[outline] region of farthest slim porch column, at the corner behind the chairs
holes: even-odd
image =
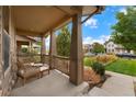
[[[44,55],[46,55],[46,45],[45,45],[45,36],[42,36],[42,46],[41,46],[41,61],[44,63]]]

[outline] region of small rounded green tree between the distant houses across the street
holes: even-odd
[[[104,46],[102,44],[93,43],[92,47],[93,47],[92,53],[98,54],[98,53],[104,53],[105,52],[105,48],[104,48]]]

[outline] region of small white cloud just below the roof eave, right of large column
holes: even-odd
[[[86,23],[84,23],[86,26],[89,26],[91,29],[98,29],[98,20],[97,19],[89,19]]]

